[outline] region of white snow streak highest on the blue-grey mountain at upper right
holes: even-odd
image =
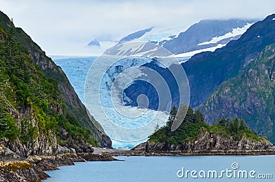
[[[228,32],[227,34],[224,34],[223,36],[216,36],[216,37],[212,38],[211,41],[207,41],[207,42],[204,42],[204,43],[199,43],[198,45],[217,44],[217,43],[219,43],[219,41],[221,41],[225,38],[239,36],[239,35],[243,34],[244,32],[246,32],[246,30],[248,30],[248,28],[251,25],[253,25],[253,23],[248,23],[247,25],[244,25],[243,27],[233,28],[232,32]]]

